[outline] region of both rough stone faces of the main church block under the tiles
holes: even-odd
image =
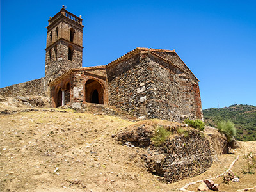
[[[198,79],[179,56],[173,62],[140,52],[107,66],[109,104],[141,119],[202,119]]]

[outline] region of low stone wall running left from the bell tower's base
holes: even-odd
[[[47,96],[46,91],[44,91],[44,77],[40,79],[35,79],[27,81],[24,83],[13,84],[11,86],[6,86],[0,88],[0,95],[4,97],[16,97],[16,96]]]

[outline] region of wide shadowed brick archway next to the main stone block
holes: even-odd
[[[86,102],[104,104],[104,88],[99,81],[89,79],[85,84]]]

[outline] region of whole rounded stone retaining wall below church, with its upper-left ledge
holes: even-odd
[[[147,170],[166,182],[194,177],[205,172],[212,165],[210,143],[203,132],[186,128],[186,125],[132,125],[117,136],[121,143],[145,148],[141,158]],[[164,127],[171,132],[159,146],[152,143],[156,127]]]

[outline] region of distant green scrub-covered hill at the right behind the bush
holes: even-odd
[[[236,104],[220,109],[204,109],[203,112],[207,125],[216,127],[221,120],[230,120],[237,129],[237,140],[256,141],[256,106]]]

